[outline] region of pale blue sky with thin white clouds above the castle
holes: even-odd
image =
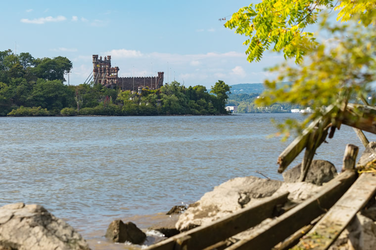
[[[224,27],[253,0],[112,0],[1,3],[0,50],[29,52],[35,58],[65,56],[73,63],[69,83],[84,83],[92,55],[111,55],[119,76],[155,76],[185,86],[261,83],[275,76],[268,67],[283,60],[267,52],[246,60],[246,37]],[[68,77],[65,77],[68,79]]]

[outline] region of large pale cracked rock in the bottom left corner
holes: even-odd
[[[82,236],[41,205],[0,207],[0,249],[90,250]]]

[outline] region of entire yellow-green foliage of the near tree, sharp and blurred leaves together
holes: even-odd
[[[325,8],[340,10],[337,20],[346,24],[330,24],[326,15],[319,15]],[[303,30],[320,21],[327,41],[319,43],[315,34]],[[264,0],[234,13],[225,26],[236,28],[235,33],[249,37],[248,60],[260,60],[265,50],[283,51],[285,58],[295,58],[296,65],[288,63],[273,70],[280,72],[277,79],[266,81],[260,106],[275,102],[290,102],[311,106],[315,113],[303,124],[291,123],[280,126],[286,134],[288,129],[301,129],[311,120],[322,117],[323,107],[330,104],[339,110],[351,97],[364,98],[370,83],[376,76],[376,2],[332,0]],[[290,81],[282,86],[278,82]],[[332,117],[338,115],[334,112]]]

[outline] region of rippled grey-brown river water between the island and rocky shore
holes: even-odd
[[[282,179],[276,162],[288,142],[267,138],[270,118],[297,116],[3,117],[0,205],[42,204],[104,240],[113,219],[191,203],[230,178]],[[337,168],[347,143],[362,149],[345,126],[328,142],[315,158]]]

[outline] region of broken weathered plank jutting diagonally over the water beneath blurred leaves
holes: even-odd
[[[338,107],[336,105],[330,105],[326,109],[325,115],[329,115],[330,113],[334,112],[337,109]],[[295,157],[304,148],[307,147],[307,143],[310,141],[312,130],[315,127],[319,127],[321,124],[323,125],[321,127],[325,128],[329,124],[330,120],[325,119],[324,120],[325,124],[323,124],[322,122],[323,122],[322,118],[317,118],[316,120],[311,122],[311,124],[302,132],[302,134],[298,136],[297,138],[295,138],[295,140],[293,140],[290,143],[290,145],[288,145],[287,148],[282,151],[282,153],[278,157],[278,162],[277,162],[280,165],[278,169],[279,173],[282,173],[283,170],[295,159]]]

